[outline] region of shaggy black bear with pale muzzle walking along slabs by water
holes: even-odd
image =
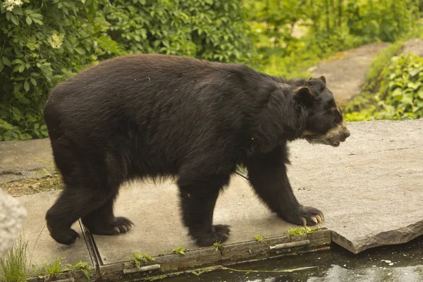
[[[94,234],[125,233],[114,216],[119,185],[175,177],[183,223],[199,246],[223,243],[213,225],[219,192],[237,165],[282,219],[314,225],[286,175],[287,142],[338,146],[350,135],[326,80],[283,80],[242,64],[180,56],[121,56],[57,85],[44,107],[54,161],[66,188],[46,215],[51,236],[70,245],[78,219]]]

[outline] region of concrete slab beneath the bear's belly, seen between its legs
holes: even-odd
[[[116,215],[127,216],[135,226],[124,235],[94,235],[104,264],[128,261],[134,252],[155,257],[169,254],[179,245],[198,249],[180,221],[178,190],[173,182],[128,183],[121,188],[115,207]],[[251,241],[257,234],[285,235],[293,227],[271,214],[240,176],[234,176],[229,188],[219,196],[214,223],[231,226],[232,234],[224,245]]]

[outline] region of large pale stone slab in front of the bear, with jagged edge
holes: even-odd
[[[338,148],[293,142],[295,194],[321,209],[333,242],[354,253],[423,235],[423,119],[348,128]]]

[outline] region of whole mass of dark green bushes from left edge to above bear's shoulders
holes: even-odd
[[[54,85],[127,53],[242,61],[253,54],[240,0],[0,1],[0,141],[47,137]]]

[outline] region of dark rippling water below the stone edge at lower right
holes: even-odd
[[[423,236],[402,245],[376,247],[353,255],[333,244],[331,250],[238,264],[233,269],[274,271],[316,266],[290,273],[238,272],[217,270],[209,273],[183,274],[165,282],[423,282]]]

